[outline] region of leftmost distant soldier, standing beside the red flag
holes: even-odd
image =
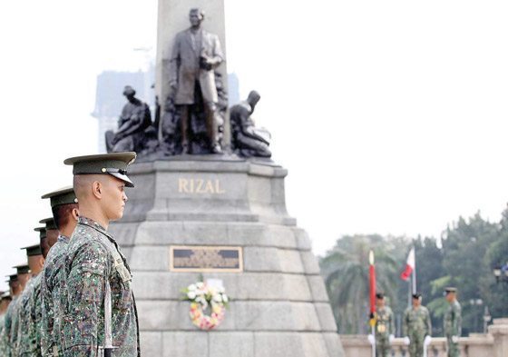
[[[376,293],[376,357],[387,357],[396,332],[394,312],[385,304],[385,295]]]

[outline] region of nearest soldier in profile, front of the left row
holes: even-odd
[[[132,274],[107,232],[122,218],[125,187],[133,187],[127,166],[135,153],[96,154],[67,159],[80,217],[65,255],[64,356],[140,356]]]

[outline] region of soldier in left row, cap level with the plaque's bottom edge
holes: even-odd
[[[12,312],[11,312],[11,322],[10,322],[10,329],[8,332],[8,347],[7,347],[7,356],[9,357],[17,357],[19,356],[19,311],[22,308],[22,301],[23,301],[23,293],[24,290],[27,289],[28,285],[30,284],[32,275],[30,274],[30,267],[27,263],[23,263],[20,265],[16,265],[13,268],[17,271],[17,280],[21,288],[20,295],[15,301],[11,302],[9,305],[9,308],[12,306]],[[7,321],[5,320],[5,328],[7,328]]]

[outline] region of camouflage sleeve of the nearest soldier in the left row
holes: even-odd
[[[96,356],[103,326],[104,282],[111,271],[107,248],[83,244],[71,257],[66,279],[68,306],[64,326],[65,356]]]

